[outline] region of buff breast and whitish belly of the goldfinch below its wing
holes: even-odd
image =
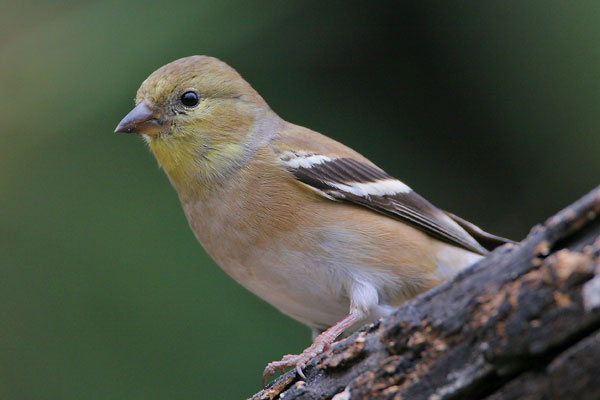
[[[439,241],[368,209],[305,191],[284,173],[242,169],[210,195],[182,199],[207,253],[283,313],[323,329],[348,313],[355,283],[375,288],[378,305],[387,307],[446,278],[435,256]]]

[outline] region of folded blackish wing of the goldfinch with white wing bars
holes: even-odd
[[[303,151],[285,151],[279,158],[294,178],[324,197],[370,208],[472,252],[486,254],[482,244],[494,248],[507,241],[440,210],[401,181],[365,162]],[[480,244],[467,231],[483,235],[489,242]]]

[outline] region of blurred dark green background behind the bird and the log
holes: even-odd
[[[217,56],[284,118],[514,239],[598,183],[600,3],[0,2],[0,398],[244,398],[307,328],[196,243],[141,81]]]

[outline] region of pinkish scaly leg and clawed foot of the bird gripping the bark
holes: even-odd
[[[296,371],[298,372],[298,375],[306,379],[304,373],[302,372],[302,369],[306,366],[306,364],[313,357],[327,350],[329,345],[333,343],[333,341],[339,335],[341,335],[346,329],[350,328],[356,322],[360,321],[363,317],[364,313],[358,310],[350,311],[350,314],[344,317],[344,319],[342,319],[341,321],[333,325],[331,328],[318,335],[314,339],[313,344],[307,347],[302,353],[288,354],[286,356],[283,356],[281,361],[270,362],[265,368],[265,372],[263,372],[263,386],[265,385],[265,382],[269,375],[272,375],[277,370],[283,373],[286,368],[293,366],[296,366]]]

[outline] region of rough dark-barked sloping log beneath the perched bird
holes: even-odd
[[[600,399],[600,187],[252,399]]]

